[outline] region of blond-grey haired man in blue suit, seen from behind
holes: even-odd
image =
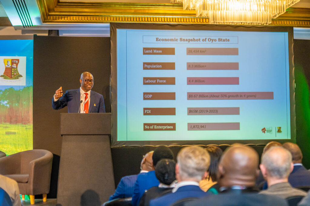
[[[151,200],[150,206],[168,206],[178,200],[209,195],[199,187],[199,181],[207,176],[209,165],[210,156],[205,149],[198,146],[181,149],[175,165],[178,184],[172,189],[172,193]]]

